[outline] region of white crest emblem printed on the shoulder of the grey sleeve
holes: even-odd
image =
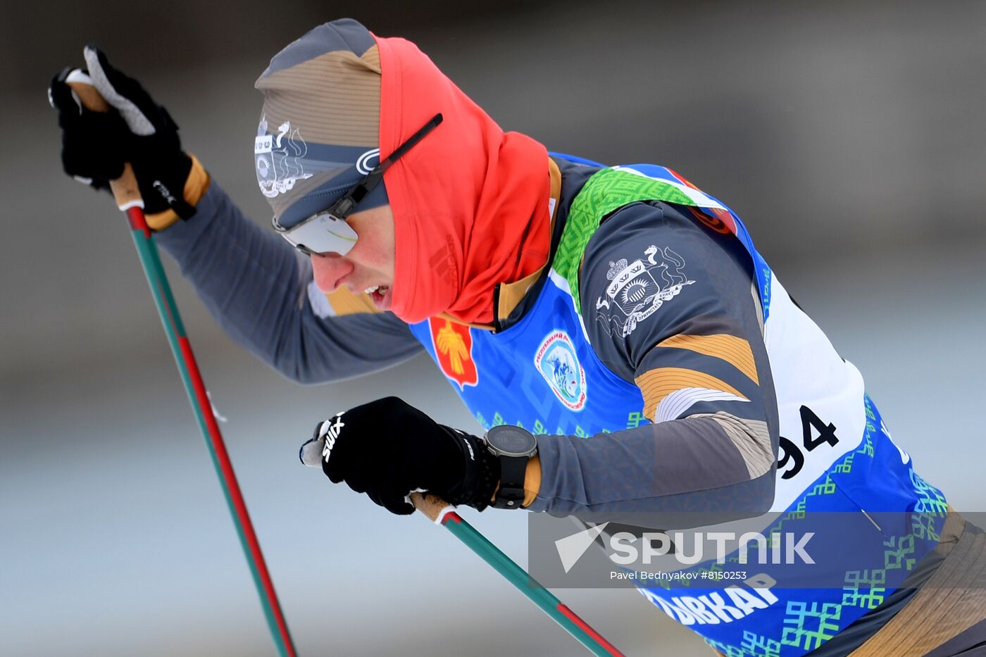
[[[683,271],[684,258],[669,247],[651,245],[644,251],[647,259],[627,262],[620,258],[609,263],[606,273],[611,283],[596,300],[596,319],[606,333],[626,337],[637,325],[654,315],[670,299],[681,293],[688,280]]]

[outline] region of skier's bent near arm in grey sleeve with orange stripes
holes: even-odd
[[[586,329],[602,362],[640,389],[654,423],[588,439],[540,437],[540,481],[528,508],[736,517],[769,508],[777,408],[749,257],[732,235],[689,213],[634,203],[590,242],[580,285]],[[637,259],[664,290],[683,284],[633,325],[625,311],[639,302],[636,292],[613,299],[605,291]]]

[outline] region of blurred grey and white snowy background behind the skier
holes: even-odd
[[[740,213],[919,472],[986,510],[986,5],[526,4],[5,0],[0,654],[272,652],[123,219],[60,172],[44,89],[86,42],[258,221],[253,80],[346,15],[418,42],[508,129],[673,167]],[[430,361],[299,388],[168,264],[301,654],[581,654],[446,532],[298,464],[317,419],[389,394],[476,430]],[[523,514],[464,515],[526,561]],[[558,594],[630,655],[709,654],[631,591]]]

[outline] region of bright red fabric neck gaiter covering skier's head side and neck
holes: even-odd
[[[407,323],[446,312],[491,324],[497,283],[547,261],[547,150],[505,133],[410,41],[375,38],[381,158],[443,115],[385,174],[396,244],[390,310]]]

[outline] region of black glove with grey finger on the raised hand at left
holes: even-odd
[[[84,50],[88,74],[111,110],[85,110],[66,84],[72,69],[51,79],[48,100],[58,111],[62,129],[62,168],[81,183],[108,189],[109,181],[133,165],[144,199],[144,211],[157,214],[175,210],[182,219],[195,214],[184,200],[184,183],[191,158],[181,150],[178,126],[168,110],[156,104],[136,80],[106,61],[93,46]]]

